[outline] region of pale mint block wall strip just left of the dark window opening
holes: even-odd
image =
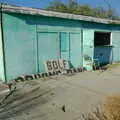
[[[83,67],[92,70],[92,60],[94,53],[94,31],[83,29]]]

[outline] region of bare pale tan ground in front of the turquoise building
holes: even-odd
[[[0,106],[0,120],[79,120],[107,96],[120,93],[120,65],[17,84]],[[0,94],[0,101],[7,93]],[[65,107],[65,112],[63,111]]]

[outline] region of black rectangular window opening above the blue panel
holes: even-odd
[[[94,46],[105,46],[111,44],[110,32],[95,32],[94,33]]]

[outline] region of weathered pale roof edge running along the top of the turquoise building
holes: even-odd
[[[102,18],[95,18],[90,16],[60,13],[60,12],[53,12],[53,11],[47,11],[47,10],[41,10],[41,9],[35,9],[35,8],[5,5],[5,4],[2,5],[2,11],[65,18],[65,19],[72,19],[72,20],[82,20],[82,21],[96,22],[96,23],[103,23],[103,24],[120,24],[119,20],[102,19]]]

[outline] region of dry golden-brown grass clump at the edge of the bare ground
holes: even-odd
[[[120,95],[108,97],[103,107],[97,107],[89,114],[82,114],[79,120],[120,120]]]

